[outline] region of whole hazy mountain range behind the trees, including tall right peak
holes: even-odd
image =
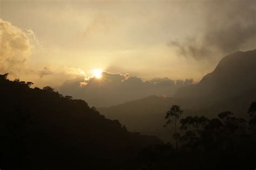
[[[180,88],[173,98],[149,96],[98,110],[107,118],[118,119],[131,131],[153,134],[167,141],[172,137],[163,128],[164,117],[173,104],[180,105],[184,117],[215,117],[230,110],[247,118],[247,109],[253,101],[256,101],[256,49],[225,56],[212,73],[198,84]]]

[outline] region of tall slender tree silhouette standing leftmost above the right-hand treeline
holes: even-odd
[[[167,125],[171,125],[172,129],[175,131],[173,134],[173,137],[176,140],[176,150],[178,150],[178,136],[179,136],[179,133],[177,132],[177,122],[181,114],[183,114],[183,111],[180,109],[179,105],[172,105],[169,111],[166,112],[166,116],[165,116],[166,123],[164,127],[167,128]]]

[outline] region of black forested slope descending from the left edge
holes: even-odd
[[[1,169],[131,169],[156,137],[126,130],[82,100],[0,76]]]

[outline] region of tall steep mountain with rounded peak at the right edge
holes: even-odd
[[[225,56],[212,73],[205,75],[196,85],[178,89],[174,97],[211,102],[255,88],[256,49]]]

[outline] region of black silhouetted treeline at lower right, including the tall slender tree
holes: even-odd
[[[139,169],[255,169],[256,102],[248,109],[248,122],[230,111],[213,119],[180,119],[182,114],[173,105],[165,117],[164,126],[173,132],[176,147],[170,143],[146,147]]]

